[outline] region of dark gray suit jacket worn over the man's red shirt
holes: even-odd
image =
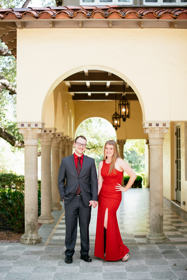
[[[64,203],[70,202],[74,197],[78,184],[80,184],[82,199],[86,207],[89,206],[90,200],[98,201],[98,183],[95,160],[84,155],[81,173],[78,177],[74,156],[64,157],[58,173],[58,190],[61,199],[64,199]]]

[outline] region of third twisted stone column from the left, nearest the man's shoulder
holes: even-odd
[[[52,203],[51,210],[60,210],[62,205],[60,204],[60,194],[58,191],[58,171],[59,171],[59,150],[61,137],[54,137],[52,140],[51,154],[52,154],[52,180],[51,180],[51,194]]]

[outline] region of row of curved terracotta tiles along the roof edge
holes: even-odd
[[[62,13],[62,14],[61,14]],[[185,8],[126,8],[117,5],[63,6],[0,9],[0,19],[55,19],[55,18],[140,18],[186,19]]]

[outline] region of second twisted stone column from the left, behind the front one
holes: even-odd
[[[41,215],[38,222],[54,223],[51,215],[51,139],[54,134],[43,134],[41,140]]]

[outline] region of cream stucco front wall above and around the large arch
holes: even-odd
[[[44,121],[54,88],[84,69],[128,82],[143,120],[187,120],[186,44],[184,29],[18,29],[17,120]]]

